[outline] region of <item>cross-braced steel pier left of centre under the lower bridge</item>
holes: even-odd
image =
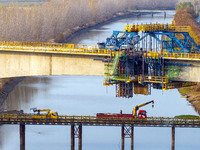
[[[82,124],[71,125],[71,150],[75,150],[75,138],[78,138],[78,150],[82,150]]]

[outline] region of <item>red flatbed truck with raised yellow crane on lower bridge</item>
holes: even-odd
[[[140,107],[148,105],[152,103],[152,107],[154,106],[154,101],[149,101],[141,105],[136,105],[133,109],[132,114],[122,114],[122,110],[120,110],[119,114],[116,113],[97,113],[97,118],[140,118],[140,119],[146,119],[147,118],[147,112],[145,110],[139,110]],[[137,111],[139,110],[138,114]]]

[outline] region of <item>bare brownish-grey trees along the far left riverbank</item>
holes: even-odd
[[[128,9],[174,8],[176,0],[48,0],[0,6],[0,41],[44,42]]]

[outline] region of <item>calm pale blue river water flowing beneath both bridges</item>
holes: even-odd
[[[121,19],[90,29],[71,39],[70,43],[96,44],[105,41],[113,30],[123,30],[127,23],[170,23],[174,13]],[[135,105],[155,100],[155,107],[145,106],[148,116],[173,117],[197,115],[192,106],[181,98],[177,89],[162,91],[152,89],[151,95],[134,95],[124,99],[115,97],[115,86],[104,87],[99,76],[27,77],[9,94],[2,108],[49,108],[63,115],[95,115],[99,112],[131,113]],[[83,150],[120,150],[120,127],[83,126]],[[171,149],[171,128],[135,127],[135,150]],[[176,150],[199,150],[199,129],[176,128]],[[76,142],[77,146],[77,142]],[[130,139],[125,148],[130,149]],[[0,150],[19,150],[19,126],[0,126]],[[76,147],[76,149],[78,149]],[[70,150],[70,126],[26,126],[26,150]]]

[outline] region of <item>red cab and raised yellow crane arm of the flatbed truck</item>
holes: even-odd
[[[142,106],[145,106],[145,105],[148,105],[152,103],[152,107],[154,107],[154,100],[152,101],[149,101],[149,102],[146,102],[146,103],[143,103],[143,104],[140,104],[140,105],[136,105],[134,108],[133,108],[133,116],[135,118],[146,118],[146,111],[145,110],[140,110],[138,115],[137,115],[137,111],[139,110],[140,107]]]

